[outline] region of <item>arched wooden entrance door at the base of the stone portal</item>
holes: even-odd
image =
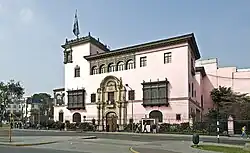
[[[115,132],[117,130],[117,115],[114,112],[109,112],[106,115],[106,130],[107,132]]]

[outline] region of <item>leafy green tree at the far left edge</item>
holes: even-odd
[[[19,81],[10,80],[7,83],[0,82],[0,123],[2,123],[8,104],[19,101],[23,95],[24,88]]]

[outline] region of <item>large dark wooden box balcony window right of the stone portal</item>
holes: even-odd
[[[168,81],[144,82],[143,105],[144,106],[168,106]]]

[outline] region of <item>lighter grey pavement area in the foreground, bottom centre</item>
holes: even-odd
[[[58,143],[27,146],[26,148],[61,150],[84,153],[130,153],[134,148],[139,153],[208,153],[207,151],[191,148],[190,142],[185,141],[129,141],[112,139],[70,139]],[[47,153],[44,150],[44,153]]]

